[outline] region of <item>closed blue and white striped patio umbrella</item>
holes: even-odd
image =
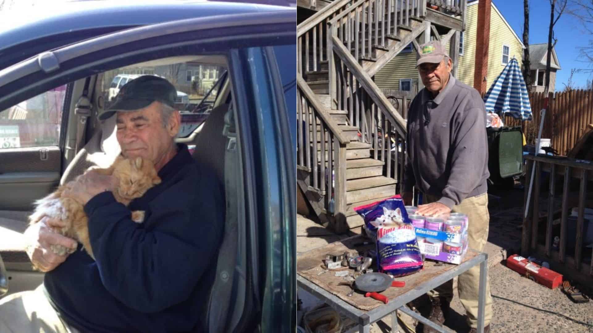
[[[484,104],[486,111],[508,113],[516,119],[531,120],[529,94],[517,59],[511,59],[496,78],[484,95]]]

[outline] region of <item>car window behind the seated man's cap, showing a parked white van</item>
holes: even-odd
[[[114,102],[119,89],[139,76],[157,75],[167,79],[177,89],[175,106],[181,112],[181,128],[178,137],[187,137],[210,115],[222,84],[221,78],[225,77],[226,72],[225,62],[220,56],[211,58],[196,56],[196,59],[185,62],[176,61],[176,59],[160,59],[104,72],[100,89],[109,107]],[[119,86],[116,84],[116,87],[113,87],[114,80],[120,77],[122,81]],[[107,86],[107,82],[112,83]]]

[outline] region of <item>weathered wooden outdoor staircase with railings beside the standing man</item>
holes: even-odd
[[[431,28],[436,34],[426,20],[433,2],[441,4],[336,0],[297,27],[297,181],[321,223],[337,232],[364,225],[354,207],[398,193],[406,123],[372,76]],[[453,2],[448,10],[463,12],[465,2]]]

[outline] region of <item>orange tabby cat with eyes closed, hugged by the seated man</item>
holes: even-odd
[[[141,157],[125,159],[119,156],[109,168],[93,167],[89,170],[91,169],[102,175],[113,175],[119,180],[119,185],[113,190],[113,196],[126,206],[133,199],[144,196],[149,188],[161,182],[154,165]],[[30,224],[39,222],[45,216],[62,220],[66,226],[55,231],[81,242],[84,249],[94,259],[93,249],[88,238],[88,218],[82,204],[72,198],[62,197],[63,191],[70,184],[62,185],[49,196],[37,200],[35,212],[29,217]],[[132,220],[142,223],[144,211],[132,212]],[[66,249],[62,245],[52,245],[52,251],[64,255],[66,252],[72,253],[74,250]]]

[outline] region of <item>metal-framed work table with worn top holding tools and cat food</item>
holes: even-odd
[[[297,285],[306,290],[315,297],[326,302],[331,308],[337,310],[342,315],[358,323],[358,327],[350,329],[349,332],[368,333],[372,323],[379,321],[385,316],[391,315],[391,332],[398,331],[397,311],[406,313],[417,319],[425,325],[435,328],[439,332],[445,331],[444,328],[434,324],[427,318],[419,315],[413,310],[407,308],[406,304],[422,296],[431,289],[445,283],[448,280],[469,270],[475,265],[480,265],[480,287],[479,287],[479,305],[478,305],[478,332],[483,332],[484,327],[484,300],[486,297],[486,277],[487,277],[487,254],[468,249],[464,262],[460,265],[443,264],[437,266],[433,261],[425,261],[425,267],[422,271],[415,274],[397,277],[395,280],[406,281],[406,286],[397,288],[390,287],[381,294],[389,299],[387,304],[383,304],[371,297],[364,297],[363,293],[355,292],[353,296],[346,296],[350,287],[339,285],[339,282],[345,281],[342,277],[334,276],[333,271],[321,273],[321,262],[327,253],[343,253],[345,251],[372,249],[372,245],[355,246],[361,242],[368,241],[362,236],[353,236],[342,239],[320,248],[305,252],[297,257]],[[321,273],[321,274],[320,274]]]

